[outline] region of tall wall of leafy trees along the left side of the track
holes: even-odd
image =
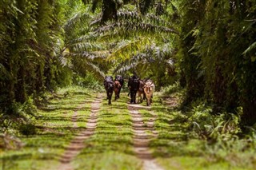
[[[65,6],[65,1],[1,2],[2,112],[12,113],[15,102],[42,96],[64,82],[59,56]]]

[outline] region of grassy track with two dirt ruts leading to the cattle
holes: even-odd
[[[36,133],[20,136],[23,147],[3,152],[1,170],[229,169],[188,140],[176,97],[155,93],[150,107],[129,101],[127,93],[108,105],[105,93],[60,91],[38,109]]]

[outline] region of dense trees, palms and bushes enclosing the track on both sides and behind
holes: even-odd
[[[1,136],[33,129],[36,109],[58,88],[100,91],[105,75],[136,73],[166,96],[178,95],[191,136],[209,144],[255,138],[255,0],[2,0],[0,6]]]

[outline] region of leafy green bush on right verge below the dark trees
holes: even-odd
[[[190,129],[193,136],[198,136],[212,142],[229,140],[237,135],[241,129],[238,126],[239,117],[233,113],[212,114],[212,108],[198,105],[190,112]]]

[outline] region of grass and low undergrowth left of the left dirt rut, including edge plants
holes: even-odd
[[[19,113],[24,114],[27,120],[22,120],[25,123],[21,125],[16,120],[5,120],[6,128],[1,128],[1,168],[57,169],[65,146],[74,133],[86,127],[84,122],[90,114],[90,102],[93,100],[89,92],[89,89],[74,86],[59,89],[58,93],[49,94],[47,103],[38,109],[31,103],[33,114],[26,113],[27,104],[19,106]],[[73,128],[72,116],[79,105],[82,109],[77,111],[78,128]],[[10,146],[6,147],[6,144]]]

